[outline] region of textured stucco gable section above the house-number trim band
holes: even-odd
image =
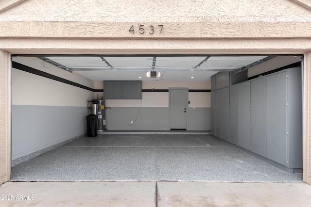
[[[11,1],[15,3],[17,0]],[[138,23],[305,21],[310,19],[310,7],[306,6],[310,0],[303,1],[305,4],[302,0],[24,0],[3,11],[1,20]]]

